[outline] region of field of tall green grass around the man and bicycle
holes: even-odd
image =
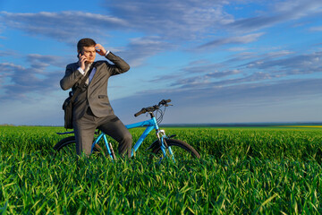
[[[161,164],[144,151],[154,134],[113,163],[55,157],[56,132],[0,126],[0,214],[322,213],[321,127],[166,128],[201,159]]]

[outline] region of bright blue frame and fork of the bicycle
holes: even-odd
[[[131,125],[125,125],[125,127],[127,129],[131,129],[131,128],[136,128],[136,127],[143,127],[143,126],[147,126],[147,128],[145,129],[145,131],[141,134],[139,140],[135,143],[135,145],[133,146],[132,150],[131,150],[131,156],[134,155],[135,151],[138,150],[140,148],[140,145],[142,144],[142,142],[144,141],[144,139],[148,136],[148,133],[150,133],[152,130],[156,130],[157,133],[157,138],[159,140],[159,142],[161,142],[161,150],[164,154],[164,158],[166,157],[166,151],[165,149],[167,148],[169,150],[169,154],[172,157],[172,159],[174,159],[174,153],[171,150],[171,147],[165,147],[165,133],[163,130],[160,130],[158,125],[157,125],[157,119],[155,116],[152,116],[151,119],[147,120],[147,121],[142,121],[140,123],[135,123],[135,124],[131,124]],[[161,133],[161,135],[160,135]],[[110,155],[111,159],[114,159],[114,152],[113,150],[110,148],[110,145],[107,141],[106,138],[106,133],[100,133],[97,137],[97,139],[95,140],[95,142],[93,142],[92,147],[91,147],[91,152],[93,152],[94,150],[94,146],[95,144],[97,144],[101,139],[103,138],[105,144],[106,144],[106,150],[108,152],[108,154]]]

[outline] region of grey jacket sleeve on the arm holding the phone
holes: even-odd
[[[68,64],[66,66],[66,72],[64,74],[64,78],[60,81],[61,88],[63,90],[68,90],[72,88],[72,86],[78,82],[82,77],[84,77],[80,71],[78,71],[77,66],[72,66],[72,64]]]

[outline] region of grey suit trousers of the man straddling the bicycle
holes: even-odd
[[[127,157],[131,158],[131,133],[117,116],[97,117],[94,116],[90,107],[88,107],[84,116],[73,121],[73,127],[76,139],[76,152],[78,155],[84,151],[89,156],[94,140],[94,133],[98,128],[119,143],[118,152],[120,155],[127,155]]]

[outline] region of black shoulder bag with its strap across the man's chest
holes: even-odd
[[[89,72],[86,73],[84,78],[81,80],[80,85],[77,87],[77,89],[72,93],[72,91],[69,92],[69,97],[64,100],[63,109],[64,109],[64,128],[66,129],[72,129],[72,103],[76,99],[76,97],[80,94],[81,87],[85,84],[86,80],[89,78],[89,73],[93,70],[96,62],[91,64],[89,68]]]

